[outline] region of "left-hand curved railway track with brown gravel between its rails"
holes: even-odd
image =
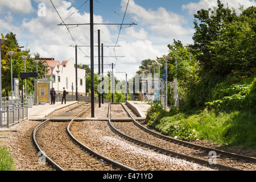
[[[79,105],[54,117],[68,117],[72,115],[71,122],[51,122],[50,119],[38,125],[32,139],[39,151],[39,159],[60,171],[120,171],[133,170],[90,150],[79,140],[73,137],[69,127],[73,120],[84,114],[90,106]]]

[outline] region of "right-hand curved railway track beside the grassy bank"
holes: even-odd
[[[255,158],[203,147],[155,133],[135,121],[134,117],[122,104],[119,104],[118,107],[118,104],[114,104],[116,107],[113,110],[115,114],[110,116],[111,105],[113,104],[109,105],[109,125],[115,133],[125,137],[127,140],[141,146],[146,146],[152,150],[188,160],[189,162],[196,162],[213,169],[237,171],[255,170],[256,168]],[[122,113],[122,109],[126,113],[123,117],[131,117],[133,122],[125,122],[122,119],[117,122],[118,114]],[[114,118],[115,122],[112,122],[111,118]],[[145,132],[142,132],[141,129]]]

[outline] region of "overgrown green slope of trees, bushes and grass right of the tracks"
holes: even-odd
[[[148,126],[179,139],[256,149],[256,7],[241,6],[238,14],[217,3],[216,14],[194,15],[189,58],[179,40],[168,45],[177,60],[177,68],[168,60],[168,80],[177,76],[180,105],[165,111],[152,103]]]

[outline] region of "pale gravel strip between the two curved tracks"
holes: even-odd
[[[139,146],[133,142],[119,137],[113,133],[108,124],[109,104],[96,109],[97,117],[104,119],[76,119],[70,126],[71,133],[81,143],[92,148],[92,150],[107,156],[119,163],[129,166],[137,171],[206,171],[210,168],[200,166],[196,163],[172,158],[164,154],[159,154],[147,147]],[[122,111],[115,110],[115,114]],[[119,119],[126,120],[122,114]]]

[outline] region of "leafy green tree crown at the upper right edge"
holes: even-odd
[[[256,65],[256,7],[249,7],[236,20],[224,23],[219,39],[211,43],[215,74],[250,76]]]

